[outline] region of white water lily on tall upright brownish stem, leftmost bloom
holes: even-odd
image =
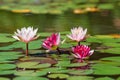
[[[28,43],[37,39],[39,36],[36,35],[38,29],[33,29],[33,27],[21,28],[21,30],[17,29],[13,38],[16,40],[22,41],[26,43],[26,56],[28,56]]]

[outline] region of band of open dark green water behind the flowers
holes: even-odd
[[[72,27],[88,28],[90,34],[109,34],[119,32],[119,9],[97,13],[72,14],[66,12],[61,15],[50,14],[16,14],[0,11],[0,32],[13,33],[24,26],[38,27],[39,31],[66,31]]]

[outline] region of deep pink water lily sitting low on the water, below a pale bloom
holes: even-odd
[[[90,47],[87,45],[78,45],[72,47],[73,55],[79,59],[85,59],[93,54],[94,50],[90,50]]]

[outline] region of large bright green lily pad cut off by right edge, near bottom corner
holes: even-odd
[[[119,75],[120,68],[107,64],[94,64],[92,66],[95,75]]]

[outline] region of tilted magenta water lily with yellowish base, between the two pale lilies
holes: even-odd
[[[44,40],[42,46],[48,50],[57,49],[60,44],[60,33],[53,33],[50,37]]]

